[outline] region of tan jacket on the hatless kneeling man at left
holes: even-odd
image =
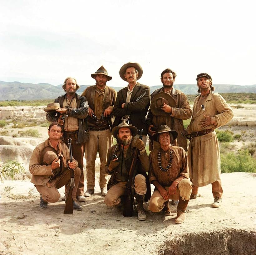
[[[70,160],[69,149],[65,143],[60,141],[62,145],[62,159],[63,159],[63,168],[67,167],[67,161]],[[52,172],[51,165],[41,165],[39,162],[39,155],[42,152],[43,148],[50,146],[49,139],[37,145],[37,147],[32,152],[32,156],[29,161],[29,171],[32,174],[31,182],[35,185],[46,186],[47,182],[54,175]],[[72,157],[72,160],[76,162],[76,167],[78,166],[77,161]]]

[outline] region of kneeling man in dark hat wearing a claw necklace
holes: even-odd
[[[149,209],[152,212],[162,210],[164,215],[170,215],[169,199],[179,200],[175,223],[180,224],[185,221],[192,183],[185,150],[171,145],[177,135],[167,125],[161,125],[154,135],[154,140],[160,143],[160,149],[151,151],[149,155],[149,180],[155,185]]]

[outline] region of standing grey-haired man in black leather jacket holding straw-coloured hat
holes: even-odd
[[[87,125],[85,118],[88,115],[87,99],[76,94],[79,85],[75,78],[67,77],[62,85],[62,89],[66,92],[65,95],[59,96],[54,100],[54,103],[60,104],[60,109],[48,112],[46,119],[50,122],[57,121],[63,128],[64,143],[68,144],[68,138],[72,139],[72,152],[74,158],[78,162],[78,167],[81,169],[80,181],[76,191],[78,201],[84,202],[84,152],[85,143],[88,140]],[[56,113],[57,112],[57,113]],[[66,117],[65,121],[62,117]]]

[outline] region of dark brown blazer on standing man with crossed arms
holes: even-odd
[[[148,86],[138,82],[132,91],[130,103],[126,102],[127,91],[128,89],[125,87],[117,93],[116,103],[113,110],[113,114],[116,116],[113,127],[118,126],[122,122],[121,118],[123,116],[130,115],[132,125],[138,130],[143,129],[143,134],[147,134],[146,115],[150,105],[150,89]],[[145,96],[137,102],[133,102],[144,93],[146,93]],[[125,103],[124,108],[121,107],[122,103]]]

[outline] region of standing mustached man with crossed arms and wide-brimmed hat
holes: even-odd
[[[147,129],[145,116],[150,105],[150,89],[148,86],[137,82],[142,73],[143,70],[139,63],[129,62],[121,67],[119,75],[123,80],[128,81],[128,86],[117,93],[113,111],[116,118],[113,126],[116,127],[125,120],[138,130],[143,129],[143,142],[146,144]]]

